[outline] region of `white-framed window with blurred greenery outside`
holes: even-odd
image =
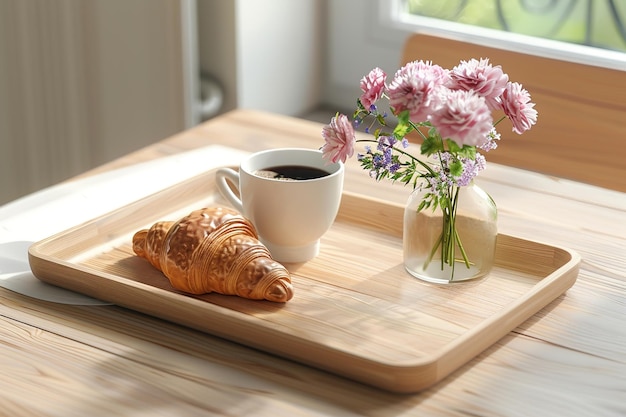
[[[389,29],[626,70],[623,0],[379,0]],[[600,47],[601,46],[601,47]]]

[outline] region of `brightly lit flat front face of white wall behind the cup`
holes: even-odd
[[[238,0],[238,103],[300,114],[319,101],[320,2]]]

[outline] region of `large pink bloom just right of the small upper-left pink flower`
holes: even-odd
[[[389,105],[395,114],[408,110],[412,120],[425,121],[436,105],[435,92],[447,77],[447,71],[438,65],[410,62],[396,72],[389,84]]]

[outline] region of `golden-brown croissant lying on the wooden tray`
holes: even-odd
[[[287,269],[271,258],[252,223],[230,208],[203,208],[176,222],[157,222],[135,233],[133,251],[180,291],[275,302],[293,297]]]

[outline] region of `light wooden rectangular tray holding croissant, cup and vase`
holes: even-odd
[[[185,295],[135,256],[132,235],[163,219],[225,204],[214,171],[35,243],[42,281],[394,392],[416,392],[459,368],[573,285],[577,254],[499,235],[479,281],[421,282],[402,265],[403,207],[345,193],[320,255],[286,264],[286,304]]]

